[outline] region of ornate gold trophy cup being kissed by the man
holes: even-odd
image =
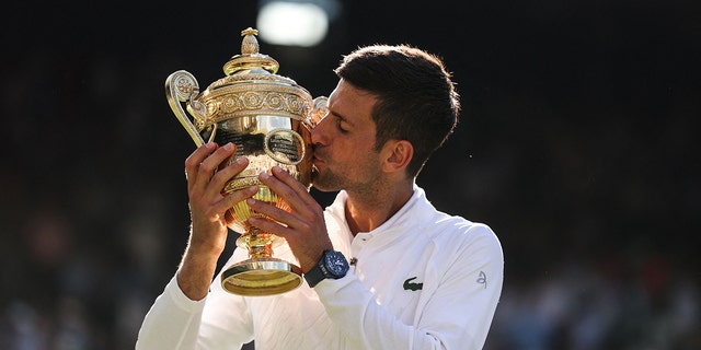
[[[312,100],[294,80],[277,75],[278,62],[258,52],[255,35],[257,31],[253,28],[241,32],[241,55],[223,65],[227,77],[200,93],[195,77],[180,70],[165,80],[165,95],[197,147],[205,140],[218,144],[232,142],[237,152],[229,162],[241,156],[249,159],[249,166],[227,183],[223,195],[257,185],[253,198],[289,211],[281,198],[261,184],[258,174],[278,165],[309,187],[309,130],[325,114],[326,97]],[[183,103],[193,120],[185,115]],[[233,206],[226,215],[232,222],[229,228],[241,234],[237,246],[248,249],[249,258],[225,269],[221,276],[225,290],[240,295],[272,295],[301,284],[298,266],[273,257],[273,248],[284,240],[246,221],[251,217],[272,219],[253,211],[245,201]]]

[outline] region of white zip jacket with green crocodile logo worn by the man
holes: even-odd
[[[240,296],[215,279],[191,301],[175,277],[147,314],[137,349],[481,349],[502,291],[504,257],[492,230],[437,211],[414,186],[409,202],[368,233],[350,234],[346,194],[325,210],[346,277],[279,295]],[[235,249],[229,264],[245,258]],[[275,256],[296,261],[289,248]],[[228,266],[228,265],[227,265]]]

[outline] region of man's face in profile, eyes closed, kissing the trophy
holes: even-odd
[[[341,80],[329,96],[329,115],[311,132],[313,186],[319,190],[368,191],[380,175],[370,113],[377,97]]]

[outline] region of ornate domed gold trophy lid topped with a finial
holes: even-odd
[[[199,131],[237,117],[308,117],[311,94],[294,80],[276,74],[279,63],[258,51],[257,33],[251,27],[241,32],[241,54],[223,65],[227,77],[211,83],[188,104]]]

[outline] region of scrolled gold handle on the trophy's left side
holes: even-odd
[[[197,128],[189,120],[181,102],[191,102],[194,96],[199,94],[199,85],[193,74],[187,71],[179,70],[165,79],[165,96],[168,97],[168,104],[173,109],[175,117],[183,125],[185,131],[195,141],[197,147],[205,144],[205,140],[202,138]],[[192,101],[197,103],[196,101]],[[214,133],[212,133],[214,136]]]

